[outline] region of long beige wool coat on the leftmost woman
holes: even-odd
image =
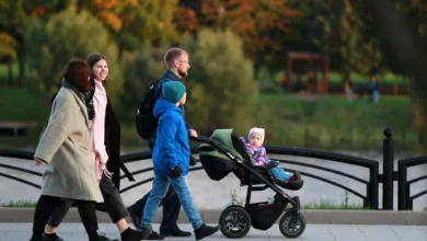
[[[48,165],[42,195],[102,203],[83,100],[71,89],[59,90],[34,157]]]

